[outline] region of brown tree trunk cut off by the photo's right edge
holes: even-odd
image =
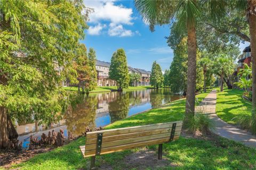
[[[256,133],[256,0],[248,0],[252,60],[252,132]],[[252,14],[254,13],[254,14]]]

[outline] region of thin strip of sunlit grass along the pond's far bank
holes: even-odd
[[[138,87],[130,86],[129,88],[123,89],[123,90],[139,90],[139,89],[151,89],[151,88],[153,88],[153,87],[151,87],[151,86],[138,86]],[[63,89],[77,91],[78,88],[77,87],[63,87]],[[99,86],[90,92],[109,92],[111,90],[117,90],[117,86]]]

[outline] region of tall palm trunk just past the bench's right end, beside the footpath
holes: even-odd
[[[191,117],[195,115],[195,90],[196,90],[196,28],[188,27],[188,80],[186,93],[186,113],[184,117],[185,128]]]

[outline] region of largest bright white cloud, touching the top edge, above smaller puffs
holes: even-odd
[[[123,5],[115,5],[114,1],[84,1],[85,6],[94,8],[90,14],[90,21],[98,23],[101,20],[114,24],[133,24],[132,8]]]

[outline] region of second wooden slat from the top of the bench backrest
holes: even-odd
[[[176,126],[175,131],[180,131],[181,126]],[[164,129],[156,129],[156,130],[149,130],[149,131],[142,131],[142,132],[133,132],[133,133],[125,133],[125,134],[119,134],[119,135],[112,135],[105,137],[103,135],[102,142],[109,142],[109,141],[116,141],[116,140],[122,140],[122,139],[129,139],[129,138],[137,138],[137,137],[144,137],[147,135],[154,135],[154,134],[160,134],[160,133],[167,133],[171,132],[171,128],[164,128]],[[86,146],[97,143],[97,138],[86,138]]]

